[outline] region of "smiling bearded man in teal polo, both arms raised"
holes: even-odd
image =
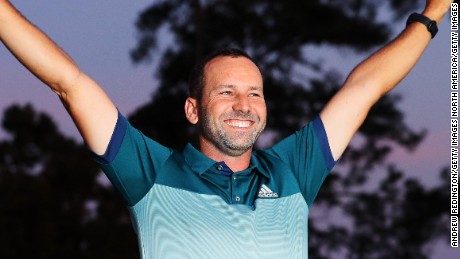
[[[357,66],[319,116],[267,150],[259,68],[242,51],[194,71],[185,115],[199,147],[171,150],[134,129],[60,48],[0,0],[0,40],[62,100],[132,214],[142,258],[307,258],[308,211],[371,106],[422,55],[451,0],[427,0]],[[154,118],[153,118],[154,119]]]

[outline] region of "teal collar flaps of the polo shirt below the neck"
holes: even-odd
[[[195,173],[198,174],[206,172],[211,166],[219,163],[201,153],[190,143],[185,146],[183,154],[187,164]],[[251,162],[248,169],[250,169],[250,171],[255,169],[261,175],[270,178],[270,174],[260,165],[259,160],[254,153],[251,156]]]

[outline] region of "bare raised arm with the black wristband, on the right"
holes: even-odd
[[[427,0],[422,14],[439,24],[452,2]],[[320,113],[334,159],[342,155],[372,105],[410,72],[430,40],[427,27],[413,22],[352,71]]]

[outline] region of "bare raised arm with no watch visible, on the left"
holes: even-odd
[[[6,0],[0,0],[0,40],[59,96],[86,144],[103,154],[115,127],[117,109],[99,85]]]

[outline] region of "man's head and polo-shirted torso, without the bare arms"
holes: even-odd
[[[262,75],[243,51],[192,73],[187,119],[199,147],[166,148],[118,115],[96,156],[123,194],[145,258],[306,258],[308,211],[334,160],[320,117],[267,150]],[[168,249],[166,249],[168,248]]]

